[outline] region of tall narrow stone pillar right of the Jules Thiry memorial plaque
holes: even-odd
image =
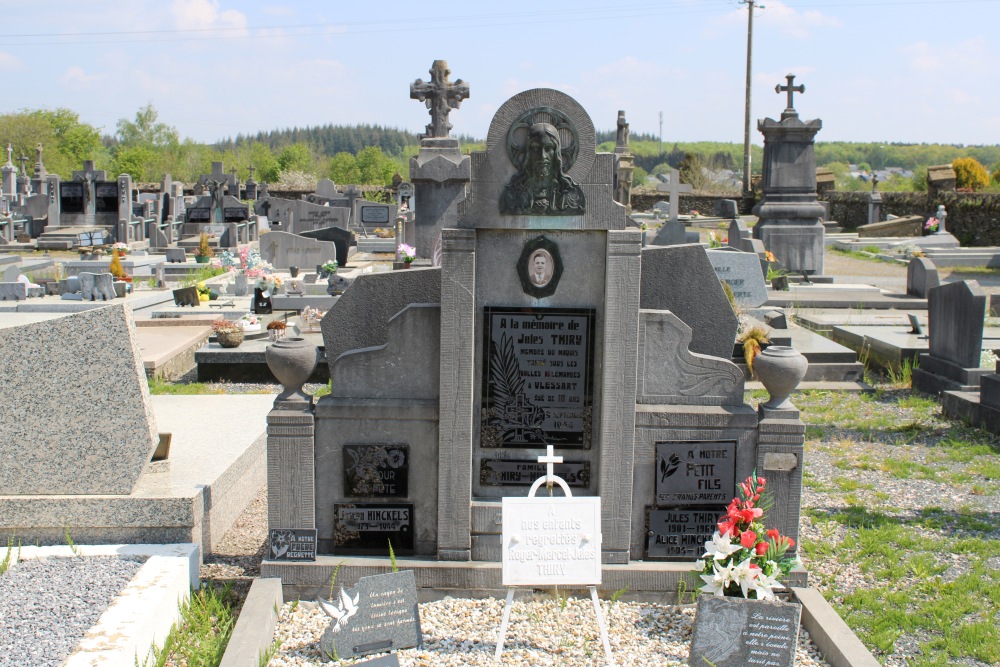
[[[641,250],[642,236],[638,231],[608,232],[600,408],[604,563],[628,563],[632,537],[639,290],[631,281],[639,275]]]

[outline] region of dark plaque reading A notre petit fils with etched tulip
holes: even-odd
[[[736,491],[735,442],[656,443],[656,504],[726,504]]]

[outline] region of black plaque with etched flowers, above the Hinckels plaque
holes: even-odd
[[[405,498],[409,471],[409,445],[344,445],[348,498]]]

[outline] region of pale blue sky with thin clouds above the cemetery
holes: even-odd
[[[760,3],[754,119],[780,115],[774,86],[795,73],[820,141],[1000,141],[1000,0]],[[2,112],[69,107],[109,133],[149,102],[202,142],[326,123],[423,131],[409,84],[445,59],[471,87],[453,132],[485,137],[507,98],[551,87],[599,129],[624,109],[633,132],[658,134],[662,111],[664,141],[743,140],[737,0],[0,0],[0,16]]]

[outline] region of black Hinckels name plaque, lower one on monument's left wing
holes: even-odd
[[[413,503],[334,503],[333,548],[337,554],[413,555]]]

